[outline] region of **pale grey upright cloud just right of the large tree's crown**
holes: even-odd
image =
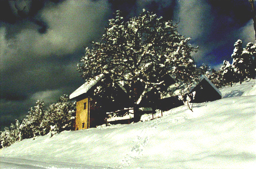
[[[192,46],[199,46],[197,53],[192,55],[195,61],[202,60],[213,48],[208,39],[214,15],[211,6],[204,0],[179,0],[174,11],[174,19],[178,23],[178,33],[192,38]],[[215,46],[216,47],[216,46]],[[215,56],[210,56],[214,59]]]

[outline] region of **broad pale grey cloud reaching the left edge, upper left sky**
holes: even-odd
[[[82,49],[89,41],[100,38],[108,8],[107,0],[66,0],[57,5],[49,2],[37,15],[47,24],[46,33],[39,33],[40,26],[33,21],[24,20],[16,25],[20,31],[7,40],[5,32],[10,25],[1,27],[1,70],[16,66],[16,62],[19,65],[40,56],[63,56]]]

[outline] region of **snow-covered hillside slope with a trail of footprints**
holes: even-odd
[[[1,150],[0,169],[255,169],[255,82],[223,87],[193,112],[25,139]]]

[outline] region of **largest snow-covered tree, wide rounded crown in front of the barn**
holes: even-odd
[[[153,88],[160,92],[162,77],[169,74],[176,81],[193,79],[191,52],[196,50],[188,44],[189,39],[178,34],[177,24],[146,10],[128,21],[117,11],[101,41],[92,42],[92,49],[86,48],[78,71],[86,81],[104,74],[110,77],[112,86],[125,84],[136,122],[142,95]]]

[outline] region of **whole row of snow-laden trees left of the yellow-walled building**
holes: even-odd
[[[21,123],[16,120],[10,128],[5,127],[5,131],[0,132],[0,147],[8,147],[22,139],[35,138],[49,132],[52,136],[54,133],[73,128],[75,106],[68,101],[68,95],[63,95],[45,111],[44,102],[37,100],[36,106],[29,109],[28,115]]]

